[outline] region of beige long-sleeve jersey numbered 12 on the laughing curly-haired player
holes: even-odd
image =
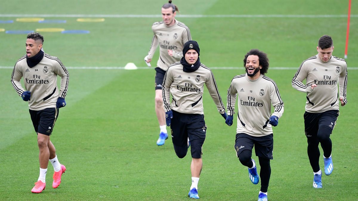
[[[271,105],[275,107],[272,115],[280,118],[284,113],[284,102],[279,89],[274,80],[265,75],[260,75],[256,80],[250,80],[246,74],[237,75],[232,79],[227,91],[228,115],[234,114],[236,98],[236,133],[246,133],[255,137],[271,134]]]

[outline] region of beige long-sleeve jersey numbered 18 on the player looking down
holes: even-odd
[[[306,84],[302,83],[304,79]],[[339,96],[347,103],[347,81],[347,63],[344,59],[332,56],[328,62],[322,62],[315,55],[302,62],[292,78],[292,87],[307,93],[307,112],[320,113],[339,109]],[[317,87],[312,89],[311,84],[316,84]]]

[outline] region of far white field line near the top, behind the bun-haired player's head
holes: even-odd
[[[116,15],[116,14],[0,14],[0,17],[19,18],[160,18],[161,15]],[[348,15],[176,15],[178,18],[347,18]],[[350,15],[358,18],[358,15]]]

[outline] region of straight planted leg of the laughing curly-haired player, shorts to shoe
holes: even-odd
[[[267,190],[271,177],[270,160],[274,159],[272,151],[274,149],[274,136],[269,134],[255,138],[255,153],[260,163],[261,188],[258,192],[258,200],[267,200]]]

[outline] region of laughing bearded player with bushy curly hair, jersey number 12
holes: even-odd
[[[228,126],[233,124],[236,98],[238,114],[235,150],[242,165],[248,167],[250,181],[257,184],[259,176],[255,161],[251,158],[252,148],[260,163],[261,189],[259,201],[267,201],[267,188],[271,176],[270,160],[273,159],[274,136],[272,126],[277,126],[284,112],[282,101],[274,80],[265,75],[269,69],[267,55],[252,49],[243,60],[246,74],[235,76],[227,92]],[[271,105],[275,107],[271,114]]]

